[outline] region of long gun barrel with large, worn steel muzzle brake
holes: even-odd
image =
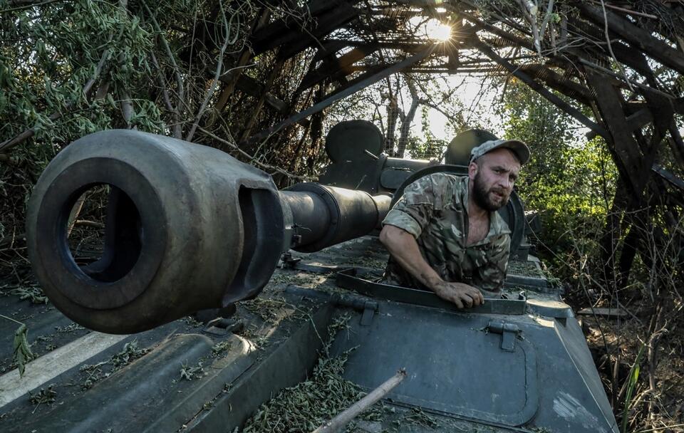
[[[110,189],[103,254],[76,263],[68,225],[79,197]],[[33,271],[54,305],[93,330],[135,333],[255,296],[283,251],[317,251],[378,226],[390,197],[297,184],[224,152],[131,130],[76,140],[28,205]]]

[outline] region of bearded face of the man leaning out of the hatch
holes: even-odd
[[[519,172],[520,162],[510,150],[496,149],[482,155],[468,167],[472,199],[489,212],[506,206]]]

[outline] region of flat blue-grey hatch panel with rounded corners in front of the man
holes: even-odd
[[[353,326],[333,346],[340,352],[357,347],[346,367],[348,380],[372,390],[393,368],[405,367],[407,379],[390,395],[395,402],[508,426],[534,417],[537,356],[518,338],[517,325],[492,315],[383,307],[371,325]]]

